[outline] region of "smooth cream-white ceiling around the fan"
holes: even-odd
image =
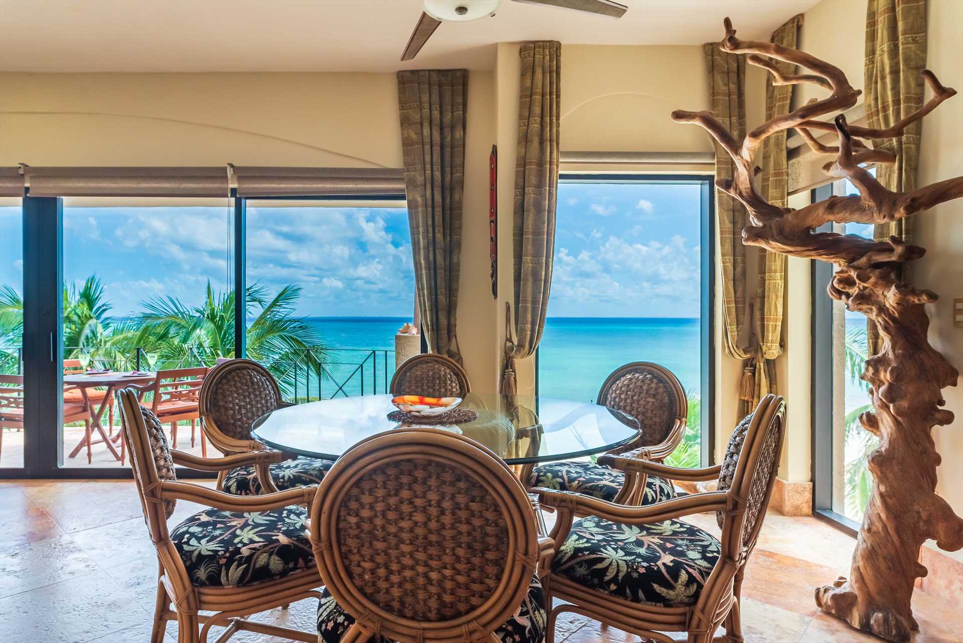
[[[769,33],[818,0],[620,0],[620,19],[502,0],[490,18],[443,23],[399,62],[421,0],[0,0],[2,71],[395,71],[490,69],[496,42],[697,44]]]

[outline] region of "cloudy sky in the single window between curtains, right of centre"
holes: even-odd
[[[699,186],[559,185],[550,317],[698,317]]]

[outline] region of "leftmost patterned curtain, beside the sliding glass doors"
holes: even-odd
[[[467,98],[466,69],[398,72],[415,296],[429,350],[459,364],[455,312]]]

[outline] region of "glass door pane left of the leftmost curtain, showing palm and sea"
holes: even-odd
[[[395,334],[414,310],[404,201],[249,199],[247,293],[247,357],[287,399],[387,393]]]

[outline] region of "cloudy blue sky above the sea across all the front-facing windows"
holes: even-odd
[[[0,282],[22,284],[19,208],[0,208]],[[64,210],[64,276],[97,274],[115,315],[153,296],[200,303],[230,288],[232,210]],[[696,317],[696,186],[561,184],[550,316]],[[505,249],[504,251],[508,251]],[[302,287],[298,312],[407,317],[414,277],[403,208],[247,209],[247,280]]]

